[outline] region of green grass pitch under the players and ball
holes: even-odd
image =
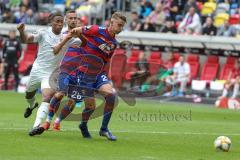
[[[236,110],[148,100],[130,107],[120,101],[110,124],[118,140],[110,142],[98,136],[101,117],[89,122],[91,140],[82,138],[79,122],[70,121],[62,123],[60,132],[30,137],[36,111],[24,119],[25,106],[23,94],[0,92],[0,160],[240,159],[240,112]],[[232,140],[229,152],[213,147],[221,135]]]

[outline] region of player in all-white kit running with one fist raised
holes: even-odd
[[[25,33],[24,24],[19,24],[17,27],[23,43],[35,42],[39,45],[37,58],[30,72],[30,80],[27,85],[25,96],[29,104],[24,113],[24,117],[27,118],[32,114],[32,110],[38,106],[35,100],[35,94],[37,89],[41,87],[42,103],[37,111],[34,127],[39,126],[42,120],[46,118],[50,99],[55,93],[55,90],[49,85],[49,77],[62,59],[63,55],[57,53],[62,48],[63,44],[72,38],[72,34],[69,32],[62,39],[61,31],[64,17],[60,12],[50,14],[49,20],[51,27],[39,30],[33,34]]]

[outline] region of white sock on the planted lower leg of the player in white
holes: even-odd
[[[39,126],[47,117],[49,103],[42,102],[37,111],[37,116],[33,127]]]

